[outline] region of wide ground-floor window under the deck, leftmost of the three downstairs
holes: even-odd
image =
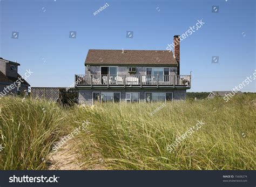
[[[120,102],[120,92],[93,92],[93,103],[97,102]]]

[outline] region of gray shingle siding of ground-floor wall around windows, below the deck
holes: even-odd
[[[125,92],[139,92],[140,102],[145,102],[146,92],[172,92],[173,101],[183,101],[186,99],[186,89],[110,89],[110,90],[100,90],[100,89],[79,89],[78,101],[79,104],[92,105],[92,93],[93,92],[121,92],[121,101],[125,102]]]

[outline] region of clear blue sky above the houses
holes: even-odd
[[[174,35],[205,23],[180,44],[180,74],[192,71],[190,92],[226,91],[256,69],[255,1],[1,2],[0,56],[17,60],[31,86],[68,87],[84,74],[89,49],[165,50]],[[96,16],[105,3],[109,6]],[[219,6],[212,13],[212,6]],[[18,38],[11,38],[12,32]],[[76,31],[76,38],[69,38]],[[126,38],[133,31],[133,38]],[[212,57],[219,56],[219,63]],[[255,92],[256,81],[242,91]]]

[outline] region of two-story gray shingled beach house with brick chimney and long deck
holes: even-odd
[[[166,102],[186,99],[191,74],[180,75],[180,38],[174,54],[148,50],[89,50],[85,74],[75,75],[79,103]]]

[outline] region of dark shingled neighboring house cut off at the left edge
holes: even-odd
[[[21,75],[18,74],[18,66],[20,64],[15,63],[14,61],[5,60],[0,58],[0,96],[6,94],[19,94],[21,92],[28,92],[28,87],[30,86],[28,82],[22,79]],[[21,84],[13,87],[11,86],[18,79]],[[12,88],[11,88],[12,87]]]

